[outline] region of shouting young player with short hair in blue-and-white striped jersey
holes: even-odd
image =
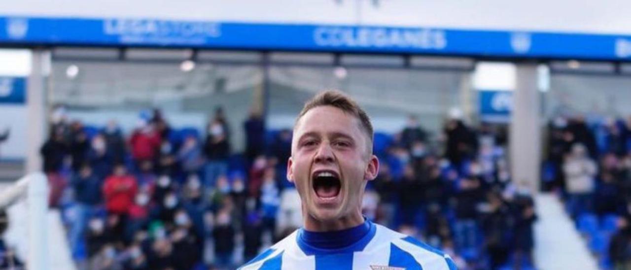
[[[379,171],[372,138],[368,115],[342,93],[307,102],[287,165],[304,226],[240,269],[456,269],[448,255],[363,218],[364,189]]]

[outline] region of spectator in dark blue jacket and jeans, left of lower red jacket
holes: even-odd
[[[84,164],[78,175],[71,180],[71,185],[76,204],[74,205],[74,221],[69,235],[70,246],[76,252],[81,238],[85,235],[88,220],[97,210],[98,204],[102,202],[102,181],[92,174],[90,165]]]

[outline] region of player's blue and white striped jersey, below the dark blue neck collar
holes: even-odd
[[[293,232],[239,269],[300,270],[453,270],[449,255],[427,244],[367,221],[370,231],[343,249],[317,249],[301,241],[303,229]]]

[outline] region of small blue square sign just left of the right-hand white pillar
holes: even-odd
[[[508,122],[513,108],[512,91],[480,90],[478,104],[482,120]]]

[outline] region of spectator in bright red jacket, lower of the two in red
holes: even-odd
[[[116,165],[114,174],[107,177],[103,184],[103,197],[105,197],[107,211],[112,214],[126,214],[129,207],[134,204],[137,190],[136,179],[127,174],[125,165]]]

